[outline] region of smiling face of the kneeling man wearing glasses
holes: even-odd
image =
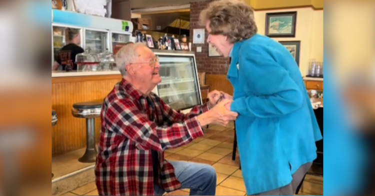
[[[138,47],[137,54],[137,60],[128,65],[128,70],[137,83],[140,83],[144,88],[153,89],[161,81],[160,64],[148,47]]]

